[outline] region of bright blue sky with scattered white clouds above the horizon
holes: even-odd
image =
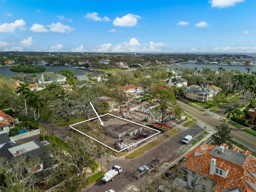
[[[256,0],[0,0],[0,50],[256,52]]]

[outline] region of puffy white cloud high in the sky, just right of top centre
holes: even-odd
[[[123,16],[122,18],[117,17],[114,22],[113,25],[114,26],[122,26],[122,27],[132,27],[132,26],[136,26],[137,24],[137,19],[140,19],[141,17],[138,15],[133,15],[133,14],[127,14],[125,16]]]

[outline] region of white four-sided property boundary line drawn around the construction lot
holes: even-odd
[[[130,122],[130,123],[133,123],[133,124],[136,124],[136,125],[139,125],[139,126],[142,126],[142,127],[145,127],[145,128],[151,129],[151,130],[154,130],[154,131],[156,131],[157,133],[156,133],[156,134],[153,134],[152,136],[149,136],[148,138],[145,138],[145,139],[143,139],[143,140],[140,140],[139,142],[136,142],[135,144],[130,145],[130,146],[128,146],[128,147],[126,147],[126,148],[124,148],[124,149],[122,149],[122,150],[120,150],[120,151],[117,151],[117,150],[111,148],[110,146],[108,146],[108,145],[106,145],[106,144],[104,144],[104,143],[102,143],[102,142],[100,142],[100,141],[98,141],[98,140],[92,138],[91,136],[88,136],[87,134],[85,134],[85,133],[83,133],[83,132],[81,132],[81,131],[79,131],[79,130],[77,130],[76,128],[73,127],[73,126],[75,126],[75,125],[78,125],[78,124],[81,124],[81,123],[84,123],[84,122],[87,122],[87,121],[90,121],[90,120],[94,120],[94,119],[97,119],[97,118],[100,118],[100,117],[103,117],[103,116],[106,116],[106,115],[110,115],[110,116],[113,116],[113,117],[122,119],[122,120],[124,120],[124,121],[127,121],[127,122]],[[94,140],[94,141],[96,141],[96,142],[98,142],[98,143],[100,143],[100,144],[106,146],[107,148],[110,148],[111,150],[113,150],[113,151],[115,151],[115,152],[117,152],[117,153],[120,153],[120,152],[122,152],[122,151],[124,151],[124,150],[126,150],[126,149],[128,149],[128,148],[130,148],[130,147],[132,147],[132,146],[134,146],[134,145],[136,145],[136,144],[139,144],[139,143],[141,143],[141,142],[143,142],[143,141],[145,141],[145,140],[147,140],[147,139],[149,139],[149,138],[151,138],[151,137],[153,137],[153,136],[155,136],[155,135],[161,133],[161,131],[159,131],[159,130],[156,130],[156,129],[147,127],[147,126],[142,125],[142,124],[138,124],[138,123],[136,123],[136,122],[133,122],[133,121],[130,121],[130,120],[127,120],[127,119],[124,119],[124,118],[121,118],[121,117],[118,117],[118,116],[109,114],[109,113],[104,114],[104,115],[100,115],[100,116],[96,116],[96,117],[94,117],[94,118],[91,118],[91,119],[88,119],[88,120],[85,120],[85,121],[82,121],[82,122],[79,122],[79,123],[76,123],[76,124],[72,124],[72,125],[70,125],[70,128],[72,128],[73,130],[75,130],[75,131],[77,131],[77,132],[83,134],[84,136],[86,136],[86,137],[88,137],[88,138],[90,138],[90,139],[92,139],[92,140]]]

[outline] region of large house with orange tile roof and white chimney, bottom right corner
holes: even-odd
[[[256,191],[256,159],[227,144],[202,144],[188,153],[181,166],[187,170],[187,186],[200,191]]]

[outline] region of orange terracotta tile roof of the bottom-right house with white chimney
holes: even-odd
[[[221,192],[224,189],[233,189],[238,186],[243,192],[255,192],[256,159],[227,148],[224,148],[223,153],[219,154],[218,148],[219,146],[216,145],[202,144],[185,156],[187,160],[182,163],[182,166],[216,182],[212,189],[214,192]],[[195,156],[196,152],[203,152],[204,154]],[[216,159],[215,167],[228,171],[226,178],[217,174],[210,174],[212,158]],[[253,173],[254,176],[249,172]]]

